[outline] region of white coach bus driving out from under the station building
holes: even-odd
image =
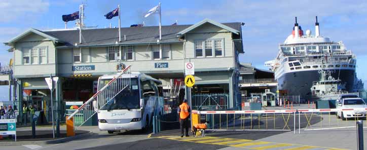
[[[116,76],[111,74],[99,77],[98,90]],[[103,98],[107,101],[97,110],[99,130],[107,130],[112,134],[121,130],[149,129],[153,116],[162,115],[164,112],[161,81],[140,72],[124,73],[119,79],[128,78],[130,78],[129,87],[113,99],[98,96],[98,101]],[[123,81],[119,79],[117,82]]]

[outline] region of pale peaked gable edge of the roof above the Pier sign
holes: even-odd
[[[193,29],[195,29],[195,28],[197,28],[197,27],[199,27],[199,26],[201,26],[201,25],[203,25],[203,24],[205,24],[205,23],[211,23],[211,24],[213,24],[213,25],[215,25],[215,26],[218,26],[218,27],[221,27],[221,28],[223,28],[223,29],[226,29],[226,30],[228,30],[228,31],[230,31],[230,32],[232,32],[232,33],[240,34],[240,31],[239,31],[239,30],[234,29],[233,27],[229,27],[229,26],[227,26],[227,25],[224,25],[224,24],[222,24],[222,23],[219,23],[219,22],[216,22],[216,21],[213,21],[213,20],[210,20],[210,19],[204,19],[204,20],[202,20],[202,21],[200,21],[200,22],[198,22],[198,23],[196,23],[196,24],[194,24],[194,25],[192,25],[192,26],[190,26],[190,27],[188,27],[188,28],[186,28],[186,29],[184,29],[184,30],[182,30],[182,31],[178,32],[178,33],[177,33],[177,36],[179,36],[179,37],[180,37],[180,36],[182,36],[183,34],[185,34],[185,33],[189,32],[189,31],[191,31],[191,30],[193,30]]]

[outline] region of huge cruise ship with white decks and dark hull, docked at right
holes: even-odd
[[[315,34],[296,23],[292,33],[283,44],[274,60],[265,62],[275,72],[278,90],[287,95],[300,95],[301,99],[311,99],[311,86],[320,80],[320,72],[327,70],[336,80],[340,80],[348,92],[353,91],[356,56],[342,41],[334,42],[320,35],[319,23],[315,23]]]

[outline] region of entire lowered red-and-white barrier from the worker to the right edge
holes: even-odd
[[[358,119],[367,117],[367,108],[193,111],[201,122],[209,122],[208,131],[293,131],[355,128]],[[298,122],[298,123],[297,123]],[[367,128],[367,125],[365,127]]]

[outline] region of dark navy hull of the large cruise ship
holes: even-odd
[[[327,69],[332,72],[332,77],[345,83],[346,90],[353,92],[354,74],[352,69]],[[298,72],[287,72],[280,76],[278,89],[286,91],[287,95],[300,95],[301,99],[311,99],[312,82],[320,80],[319,70],[307,70]]]

